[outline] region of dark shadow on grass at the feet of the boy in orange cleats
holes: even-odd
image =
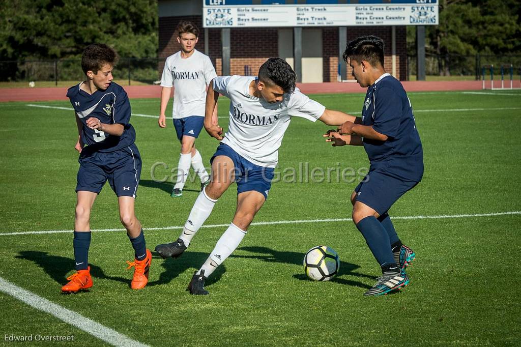
[[[75,268],[74,259],[49,255],[47,252],[21,251],[15,258],[25,259],[35,263],[41,267],[49,277],[62,286],[68,282],[67,274]],[[99,266],[91,264],[90,267],[92,277],[126,283],[130,287],[131,278],[107,276]]]

